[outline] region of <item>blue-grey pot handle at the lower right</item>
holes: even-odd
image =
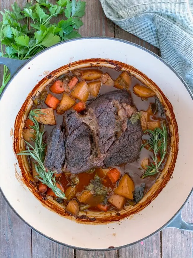
[[[169,222],[169,224],[165,228],[167,227],[175,227],[182,230],[193,231],[193,223],[185,222],[182,219],[181,211],[172,219],[171,222]]]

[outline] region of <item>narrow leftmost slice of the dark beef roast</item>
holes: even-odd
[[[49,135],[44,166],[48,170],[59,171],[65,160],[64,134],[61,126],[56,125]]]

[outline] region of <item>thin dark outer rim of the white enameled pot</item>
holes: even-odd
[[[89,40],[89,39],[107,39],[107,40],[112,40],[112,41],[119,41],[119,42],[122,42],[122,43],[126,43],[126,44],[129,44],[129,45],[132,45],[134,47],[138,47],[140,49],[142,49],[143,51],[146,51],[147,53],[153,55],[154,57],[156,57],[158,60],[160,60],[163,64],[165,64],[170,70],[172,70],[173,73],[176,74],[176,76],[179,78],[179,80],[184,84],[186,90],[188,91],[188,93],[190,94],[191,96],[191,99],[193,100],[193,94],[191,93],[190,89],[188,88],[187,84],[185,83],[185,81],[182,79],[182,77],[176,72],[176,70],[174,70],[166,61],[164,61],[161,57],[159,57],[157,54],[154,54],[153,52],[151,52],[150,50],[146,49],[145,47],[142,47],[138,44],[135,44],[135,43],[132,43],[130,41],[126,41],[126,40],[123,40],[123,39],[118,39],[118,38],[111,38],[111,37],[81,37],[81,38],[74,38],[74,39],[70,39],[70,40],[66,40],[66,41],[63,41],[63,42],[60,42],[58,44],[55,44],[51,47],[48,47],[42,51],[40,51],[39,53],[37,53],[35,56],[31,57],[29,60],[26,61],[26,63],[24,63],[18,70],[16,73],[14,73],[13,77],[11,77],[11,80],[8,82],[8,84],[5,86],[1,96],[0,96],[0,100],[3,96],[3,93],[5,92],[5,90],[7,89],[7,87],[9,86],[9,84],[12,82],[12,80],[14,79],[14,77],[17,75],[17,73],[20,72],[20,70],[22,69],[22,67],[24,65],[26,65],[27,63],[29,63],[31,60],[33,60],[34,58],[36,58],[38,55],[40,55],[41,53],[53,48],[53,47],[56,47],[58,45],[62,45],[62,44],[65,44],[67,42],[71,42],[71,41],[78,41],[78,40],[82,40],[82,39],[86,39],[86,40]],[[131,245],[134,245],[134,244],[137,244],[143,240],[146,240],[147,238],[149,237],[152,237],[154,234],[158,233],[159,231],[161,231],[162,229],[164,229],[172,220],[175,219],[175,217],[177,217],[177,215],[181,212],[182,208],[184,207],[184,205],[186,204],[186,202],[188,201],[188,199],[190,198],[191,194],[193,193],[193,187],[188,195],[188,197],[186,198],[185,202],[182,204],[182,206],[179,208],[179,210],[176,212],[176,214],[173,215],[173,217],[168,221],[166,222],[166,224],[164,224],[162,227],[160,227],[159,229],[157,229],[155,232],[153,232],[152,234],[148,235],[147,237],[144,237],[136,242],[133,242],[133,243],[130,243],[130,244],[127,244],[127,245],[124,245],[124,246],[120,246],[120,247],[110,247],[110,248],[104,248],[104,249],[92,249],[92,248],[82,248],[82,247],[75,247],[75,246],[71,246],[71,245],[67,245],[65,243],[62,243],[62,242],[59,242],[57,240],[54,240],[53,238],[51,237],[48,237],[46,235],[44,235],[43,233],[41,233],[40,231],[38,231],[37,229],[33,228],[30,224],[28,224],[18,213],[17,211],[15,211],[15,209],[11,206],[11,204],[9,203],[9,201],[7,200],[7,198],[5,197],[1,187],[0,187],[0,192],[1,194],[3,195],[3,197],[5,198],[5,201],[8,203],[9,207],[11,207],[12,211],[14,211],[15,214],[17,214],[17,216],[25,223],[27,224],[31,229],[33,229],[34,231],[36,231],[38,234],[42,235],[43,237],[46,237],[47,239],[49,240],[52,240],[53,242],[55,243],[58,243],[58,244],[61,244],[63,246],[66,246],[66,247],[70,247],[70,248],[73,248],[73,249],[78,249],[78,250],[84,250],[84,251],[110,251],[110,250],[117,250],[117,249],[121,249],[121,248],[124,248],[124,247],[129,247]]]

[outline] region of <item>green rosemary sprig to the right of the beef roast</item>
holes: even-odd
[[[141,146],[141,149],[146,146],[147,144],[150,145],[149,150],[153,151],[153,161],[154,164],[151,163],[149,166],[147,166],[147,169],[145,173],[142,175],[141,179],[146,178],[147,176],[155,175],[159,173],[159,167],[162,164],[164,157],[167,153],[167,130],[166,126],[163,125],[162,129],[156,128],[154,131],[152,130],[146,130],[146,132],[150,135],[150,139],[147,140],[146,143],[144,143]],[[157,160],[157,153],[160,152],[160,158],[161,160],[158,162]]]

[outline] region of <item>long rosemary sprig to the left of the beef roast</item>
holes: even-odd
[[[43,184],[47,185],[56,196],[62,199],[66,199],[65,194],[57,187],[55,182],[55,177],[53,177],[54,171],[47,171],[44,167],[43,161],[45,158],[44,150],[46,144],[43,143],[43,129],[39,126],[39,123],[35,119],[38,114],[43,114],[40,109],[33,109],[30,111],[29,119],[34,123],[34,126],[30,126],[36,132],[36,138],[31,140],[34,142],[35,146],[33,147],[29,142],[26,142],[27,149],[18,153],[17,155],[29,155],[33,158],[37,164],[35,164],[36,171],[38,176],[36,176]],[[30,149],[31,148],[31,149]]]

